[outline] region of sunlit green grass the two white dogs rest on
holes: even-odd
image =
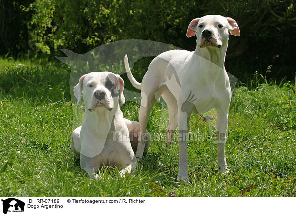
[[[161,138],[152,142],[137,173],[119,177],[119,169],[102,167],[96,181],[70,151],[70,68],[5,58],[0,65],[1,196],[156,197],[171,191],[176,197],[296,196],[296,95],[290,83],[235,88],[228,174],[217,171],[215,121],[193,115],[190,132],[200,138],[188,143],[190,183],[179,183],[178,144],[165,147],[167,112],[157,104],[148,130]],[[137,120],[138,104],[129,101],[121,109]],[[204,115],[215,118],[216,111]]]

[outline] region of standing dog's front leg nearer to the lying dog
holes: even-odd
[[[190,115],[187,112],[178,111],[178,139],[179,139],[179,172],[178,180],[189,182],[188,178],[188,121]]]

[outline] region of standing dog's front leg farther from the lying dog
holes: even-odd
[[[217,109],[217,144],[218,144],[218,170],[222,173],[227,173],[227,163],[226,163],[226,154],[225,154],[225,143],[226,143],[226,131],[228,126],[228,113]]]

